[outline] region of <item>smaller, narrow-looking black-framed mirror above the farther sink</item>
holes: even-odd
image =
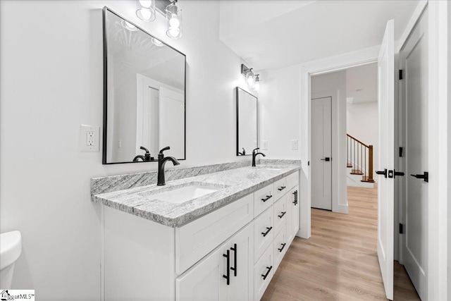
[[[237,156],[250,156],[258,147],[258,99],[236,87]]]

